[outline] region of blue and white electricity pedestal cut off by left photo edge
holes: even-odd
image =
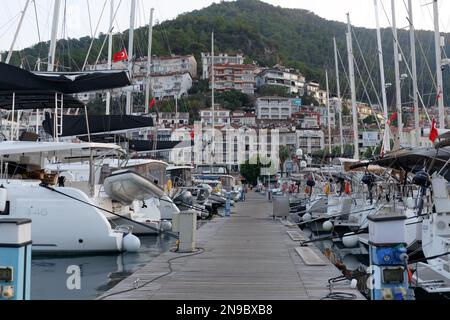
[[[0,219],[0,300],[30,300],[31,220]]]

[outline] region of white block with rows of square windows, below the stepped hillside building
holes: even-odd
[[[289,98],[261,97],[256,100],[256,117],[259,120],[287,120],[292,117],[292,102]]]

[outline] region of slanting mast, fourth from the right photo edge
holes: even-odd
[[[377,24],[377,41],[378,41],[378,60],[380,65],[380,79],[381,79],[381,96],[383,100],[383,117],[384,117],[384,150],[386,152],[391,151],[391,130],[389,128],[389,114],[387,106],[387,96],[386,96],[386,78],[384,75],[384,60],[383,60],[383,44],[381,42],[381,32],[380,32],[380,19],[378,17],[378,0],[373,0],[375,6],[375,20]]]

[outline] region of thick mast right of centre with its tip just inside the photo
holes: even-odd
[[[355,66],[352,44],[352,26],[350,23],[350,13],[347,13],[347,51],[348,51],[348,69],[350,76],[350,92],[352,96],[352,113],[353,113],[353,139],[355,146],[355,154],[353,158],[359,160],[359,132],[358,132],[358,110],[356,107],[356,85],[355,85]]]

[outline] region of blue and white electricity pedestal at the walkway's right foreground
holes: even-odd
[[[369,216],[372,300],[413,300],[409,288],[404,215]]]

